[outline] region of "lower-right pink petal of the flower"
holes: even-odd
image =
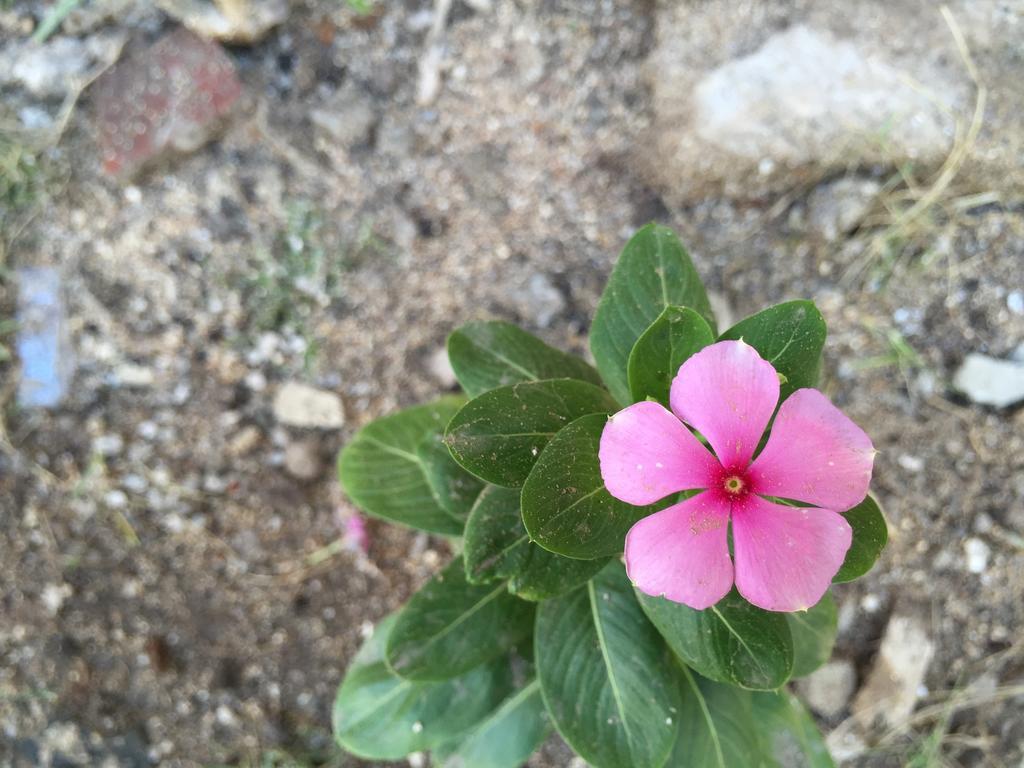
[[[838,512],[751,494],[732,506],[736,589],[765,610],[805,610],[824,595],[852,540]]]

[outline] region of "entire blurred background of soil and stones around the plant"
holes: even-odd
[[[1022,72],[1024,0],[0,0],[0,765],[360,765],[449,549],[338,449],[466,321],[586,354],[650,220],[722,327],[816,301],[882,452],[837,758],[1024,764]]]

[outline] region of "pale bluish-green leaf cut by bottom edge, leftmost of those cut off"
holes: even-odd
[[[551,730],[537,680],[505,700],[440,763],[443,768],[518,768]],[[437,754],[434,753],[434,757]]]

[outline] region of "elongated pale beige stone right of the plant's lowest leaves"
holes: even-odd
[[[857,723],[865,729],[876,719],[890,728],[903,725],[934,655],[935,644],[916,618],[890,618],[867,682],[853,700]]]

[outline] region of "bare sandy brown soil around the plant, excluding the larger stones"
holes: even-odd
[[[1024,412],[949,385],[969,352],[1024,343],[1019,196],[882,255],[884,223],[814,231],[807,190],[670,207],[635,162],[653,4],[456,3],[443,85],[418,105],[426,8],[294,6],[230,49],[247,95],[223,135],[128,185],[99,173],[83,96],[7,255],[60,267],[77,373],[59,409],[25,410],[0,364],[0,764],[361,765],[332,748],[335,689],[449,553],[373,521],[368,552],[338,544],[338,449],[452,386],[436,355],[465,321],[584,352],[617,251],[657,219],[733,317],[818,303],[823,389],[881,451],[890,544],[836,589],[837,655],[863,682],[897,613],[936,652],[919,715],[851,764],[1021,765]],[[143,37],[171,25],[139,18]],[[311,119],[339,90],[358,108],[344,140]],[[313,260],[282,272],[286,251]],[[291,380],[337,392],[344,427],[279,423]],[[553,738],[531,765],[569,760]]]

